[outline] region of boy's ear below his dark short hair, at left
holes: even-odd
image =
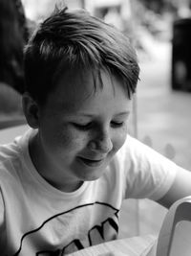
[[[25,117],[31,128],[39,127],[39,105],[32,99],[32,96],[25,92],[22,97],[22,105]]]

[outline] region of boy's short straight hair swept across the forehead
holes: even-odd
[[[127,36],[85,10],[54,11],[39,24],[25,49],[26,91],[45,103],[67,70],[101,69],[124,82],[128,97],[138,83],[138,59]]]

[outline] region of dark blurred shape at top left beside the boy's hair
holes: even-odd
[[[28,38],[20,0],[0,1],[0,81],[24,89],[23,47]]]

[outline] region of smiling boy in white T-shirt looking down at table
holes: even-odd
[[[127,135],[138,62],[87,12],[53,13],[25,52],[30,129],[0,149],[0,254],[65,255],[117,238],[124,198],[170,206],[191,175]]]

